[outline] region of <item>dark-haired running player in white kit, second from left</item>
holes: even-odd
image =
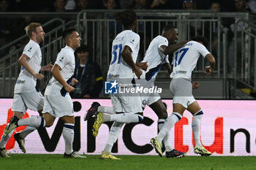
[[[20,125],[29,125],[31,127],[50,127],[53,125],[56,117],[61,117],[64,121],[62,131],[65,141],[64,158],[86,158],[86,156],[78,155],[72,149],[74,140],[74,124],[75,117],[73,111],[73,103],[69,92],[74,91],[67,80],[72,77],[75,70],[75,49],[80,47],[80,36],[75,28],[67,28],[63,31],[62,38],[66,43],[66,47],[62,48],[56,58],[53,69],[51,70],[53,77],[50,79],[45,89],[45,104],[43,107],[43,117],[34,116],[23,120],[14,117],[12,123],[4,130],[4,134],[10,133],[12,129]],[[75,84],[78,80],[72,79],[71,84]],[[61,88],[67,91],[66,95],[61,94]]]

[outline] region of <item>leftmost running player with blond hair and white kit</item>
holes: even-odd
[[[42,80],[43,74],[39,71],[50,71],[53,65],[48,63],[46,66],[41,67],[42,53],[39,43],[44,41],[45,32],[42,29],[40,23],[30,23],[25,28],[26,35],[29,36],[29,43],[24,47],[23,53],[19,58],[21,65],[20,74],[14,88],[14,97],[12,104],[13,116],[10,120],[12,123],[13,118],[17,117],[22,119],[27,109],[38,111],[39,115],[42,113],[42,107],[44,105],[44,97],[36,89],[37,80]],[[8,125],[7,125],[8,127]],[[24,138],[34,131],[36,128],[26,127],[24,131],[19,134],[15,134],[15,140],[18,142],[20,149],[26,152],[24,144]],[[9,158],[5,150],[5,146],[12,136],[14,129],[10,131],[8,136],[1,136],[0,142],[0,156]]]

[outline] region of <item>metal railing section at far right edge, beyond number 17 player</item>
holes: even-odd
[[[245,93],[256,93],[256,25],[244,18],[234,25],[233,83]]]

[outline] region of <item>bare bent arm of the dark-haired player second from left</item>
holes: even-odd
[[[64,78],[61,76],[61,67],[58,64],[54,64],[53,69],[51,70],[51,73],[53,74],[53,77],[63,85],[65,90],[69,93],[75,90],[71,85],[67,84],[67,82],[64,80]]]

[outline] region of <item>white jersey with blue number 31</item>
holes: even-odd
[[[124,46],[132,50],[132,60],[136,62],[140,49],[140,36],[131,30],[124,30],[116,36],[112,44],[112,58],[108,70],[108,78],[133,78],[132,68],[121,58],[121,51]]]

